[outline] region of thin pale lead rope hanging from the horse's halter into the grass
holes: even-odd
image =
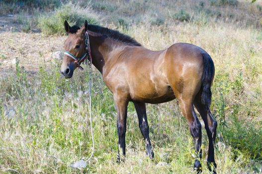
[[[90,121],[90,130],[91,130],[91,137],[92,137],[92,143],[93,143],[93,147],[92,147],[92,153],[91,153],[91,156],[87,159],[86,162],[88,162],[92,156],[93,156],[93,153],[94,153],[94,139],[93,139],[93,131],[92,131],[92,117],[91,117],[91,93],[92,93],[92,78],[91,78],[91,75],[92,75],[92,70],[91,70],[91,62],[88,62],[89,64],[89,82],[88,82],[88,93],[89,93],[89,121]]]

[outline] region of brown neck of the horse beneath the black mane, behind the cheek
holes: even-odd
[[[90,34],[89,34],[90,33]],[[106,36],[97,35],[93,32],[88,32],[90,49],[92,56],[92,64],[94,67],[103,74],[103,68],[109,64],[109,60],[114,58],[117,54],[117,47],[125,46],[124,43],[119,43]]]

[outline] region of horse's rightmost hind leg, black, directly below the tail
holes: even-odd
[[[197,111],[201,115],[204,123],[205,129],[208,136],[208,157],[207,157],[207,166],[209,171],[213,171],[213,174],[216,174],[216,163],[214,157],[214,143],[216,139],[216,129],[217,129],[217,121],[213,118],[209,107],[202,104],[201,102],[201,94],[197,94],[194,106],[196,107]],[[212,168],[214,168],[212,170]]]

